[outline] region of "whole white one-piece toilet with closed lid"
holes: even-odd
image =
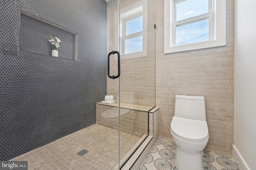
[[[202,150],[209,134],[203,96],[175,96],[171,134],[176,143],[175,166],[178,170],[203,170]]]

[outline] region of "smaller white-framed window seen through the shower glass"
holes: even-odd
[[[146,8],[144,4],[136,3],[125,10],[120,15],[120,53],[122,58],[146,56]]]

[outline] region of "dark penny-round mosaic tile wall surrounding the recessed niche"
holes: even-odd
[[[104,0],[1,0],[0,8],[0,160],[9,160],[96,123],[107,16]],[[20,8],[77,32],[78,61],[19,51]]]

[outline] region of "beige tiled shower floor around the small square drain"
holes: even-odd
[[[120,132],[120,157],[139,139]],[[82,149],[89,152],[79,156]],[[28,170],[110,170],[118,163],[118,131],[95,124],[12,160],[27,160]]]

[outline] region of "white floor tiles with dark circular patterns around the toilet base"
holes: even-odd
[[[232,156],[204,149],[204,170],[239,170]],[[174,165],[176,145],[173,140],[159,137],[151,148],[139,170],[178,170]]]

